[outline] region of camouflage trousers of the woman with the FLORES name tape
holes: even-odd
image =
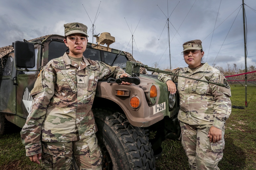
[[[102,154],[96,135],[71,142],[42,141],[41,166],[51,170],[71,170],[72,155],[81,170],[101,170]]]

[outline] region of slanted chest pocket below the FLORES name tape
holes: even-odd
[[[58,94],[62,95],[63,97],[77,93],[77,88],[73,81],[76,80],[76,73],[70,72],[70,74],[71,75],[69,75],[67,70],[61,70],[60,72],[57,72],[56,85],[58,87],[55,88],[57,89]]]

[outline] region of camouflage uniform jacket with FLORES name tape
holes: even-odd
[[[49,61],[31,90],[32,109],[20,132],[27,156],[42,152],[41,140],[76,141],[97,132],[91,111],[97,82],[125,73],[84,57],[78,67],[67,54]]]

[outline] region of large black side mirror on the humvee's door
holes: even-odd
[[[34,44],[23,41],[14,42],[14,59],[16,68],[35,67]]]

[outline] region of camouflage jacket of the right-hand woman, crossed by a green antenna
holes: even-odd
[[[219,70],[209,66],[208,63],[202,64],[194,73],[188,67],[177,68],[172,72],[176,75],[223,83],[226,87],[163,73],[158,75],[158,79],[164,83],[168,80],[178,83],[180,121],[190,125],[213,124],[222,129],[231,113],[230,87]]]

